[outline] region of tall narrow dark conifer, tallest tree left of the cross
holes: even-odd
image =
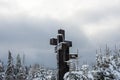
[[[15,80],[13,58],[10,51],[8,52],[8,65],[5,72],[5,80]]]

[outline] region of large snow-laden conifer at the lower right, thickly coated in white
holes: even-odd
[[[92,75],[94,79],[96,80],[119,80],[117,79],[118,77],[118,71],[116,70],[116,64],[115,64],[115,59],[117,57],[114,57],[114,55],[111,54],[111,50],[106,46],[105,49],[105,55],[99,55],[101,56],[101,59],[97,58],[97,63],[96,63],[96,69],[92,71]],[[100,65],[97,65],[100,64]]]

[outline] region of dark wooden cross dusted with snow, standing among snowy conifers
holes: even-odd
[[[55,53],[57,53],[57,80],[64,80],[64,74],[69,71],[69,66],[65,61],[69,60],[69,48],[72,47],[72,42],[66,41],[65,31],[59,29],[57,38],[50,39],[50,44],[55,45]]]

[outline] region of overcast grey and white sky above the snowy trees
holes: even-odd
[[[10,50],[27,64],[56,67],[49,39],[60,28],[71,53],[79,49],[80,61],[93,62],[96,49],[120,48],[120,0],[0,0],[0,59],[7,62]]]

